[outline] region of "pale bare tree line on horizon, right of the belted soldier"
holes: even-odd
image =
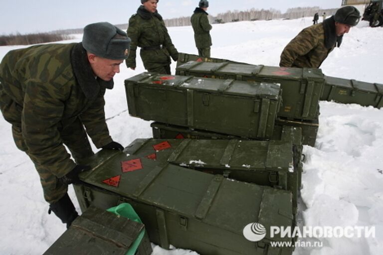
[[[270,20],[277,18],[284,19],[296,19],[301,17],[314,16],[316,12],[320,15],[323,12],[326,12],[327,17],[333,15],[337,9],[321,9],[319,6],[313,7],[295,7],[287,9],[286,13],[281,13],[277,9],[256,9],[251,8],[250,10],[229,10],[224,13],[218,13],[215,17],[209,15],[210,23],[217,22],[232,22],[232,21],[242,21],[242,20]],[[165,19],[165,24],[167,27],[171,26],[189,26],[191,25],[190,16],[188,17],[179,17]]]

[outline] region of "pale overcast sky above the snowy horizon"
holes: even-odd
[[[160,0],[159,13],[165,18],[190,16],[199,0]],[[290,7],[340,7],[342,0],[209,0],[208,13],[227,10],[274,8],[282,13]],[[46,32],[81,28],[86,24],[108,21],[128,23],[140,0],[1,0],[0,34]]]

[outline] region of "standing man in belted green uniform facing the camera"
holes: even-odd
[[[170,56],[178,59],[178,51],[173,45],[162,16],[157,11],[158,0],[141,0],[142,5],[129,19],[128,36],[132,39],[126,66],[136,68],[136,49],[141,47],[140,55],[144,67],[149,72],[171,74]]]

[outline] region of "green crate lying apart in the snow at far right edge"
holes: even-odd
[[[325,77],[325,89],[321,100],[361,106],[383,106],[383,84]]]

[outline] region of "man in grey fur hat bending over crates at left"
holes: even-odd
[[[0,64],[0,108],[18,149],[33,161],[44,198],[63,223],[78,216],[67,190],[98,148],[123,150],[105,122],[105,89],[128,57],[130,39],[107,22],[84,28],[82,42],[9,51]],[[86,128],[86,131],[84,129]],[[73,156],[64,147],[68,147]]]

